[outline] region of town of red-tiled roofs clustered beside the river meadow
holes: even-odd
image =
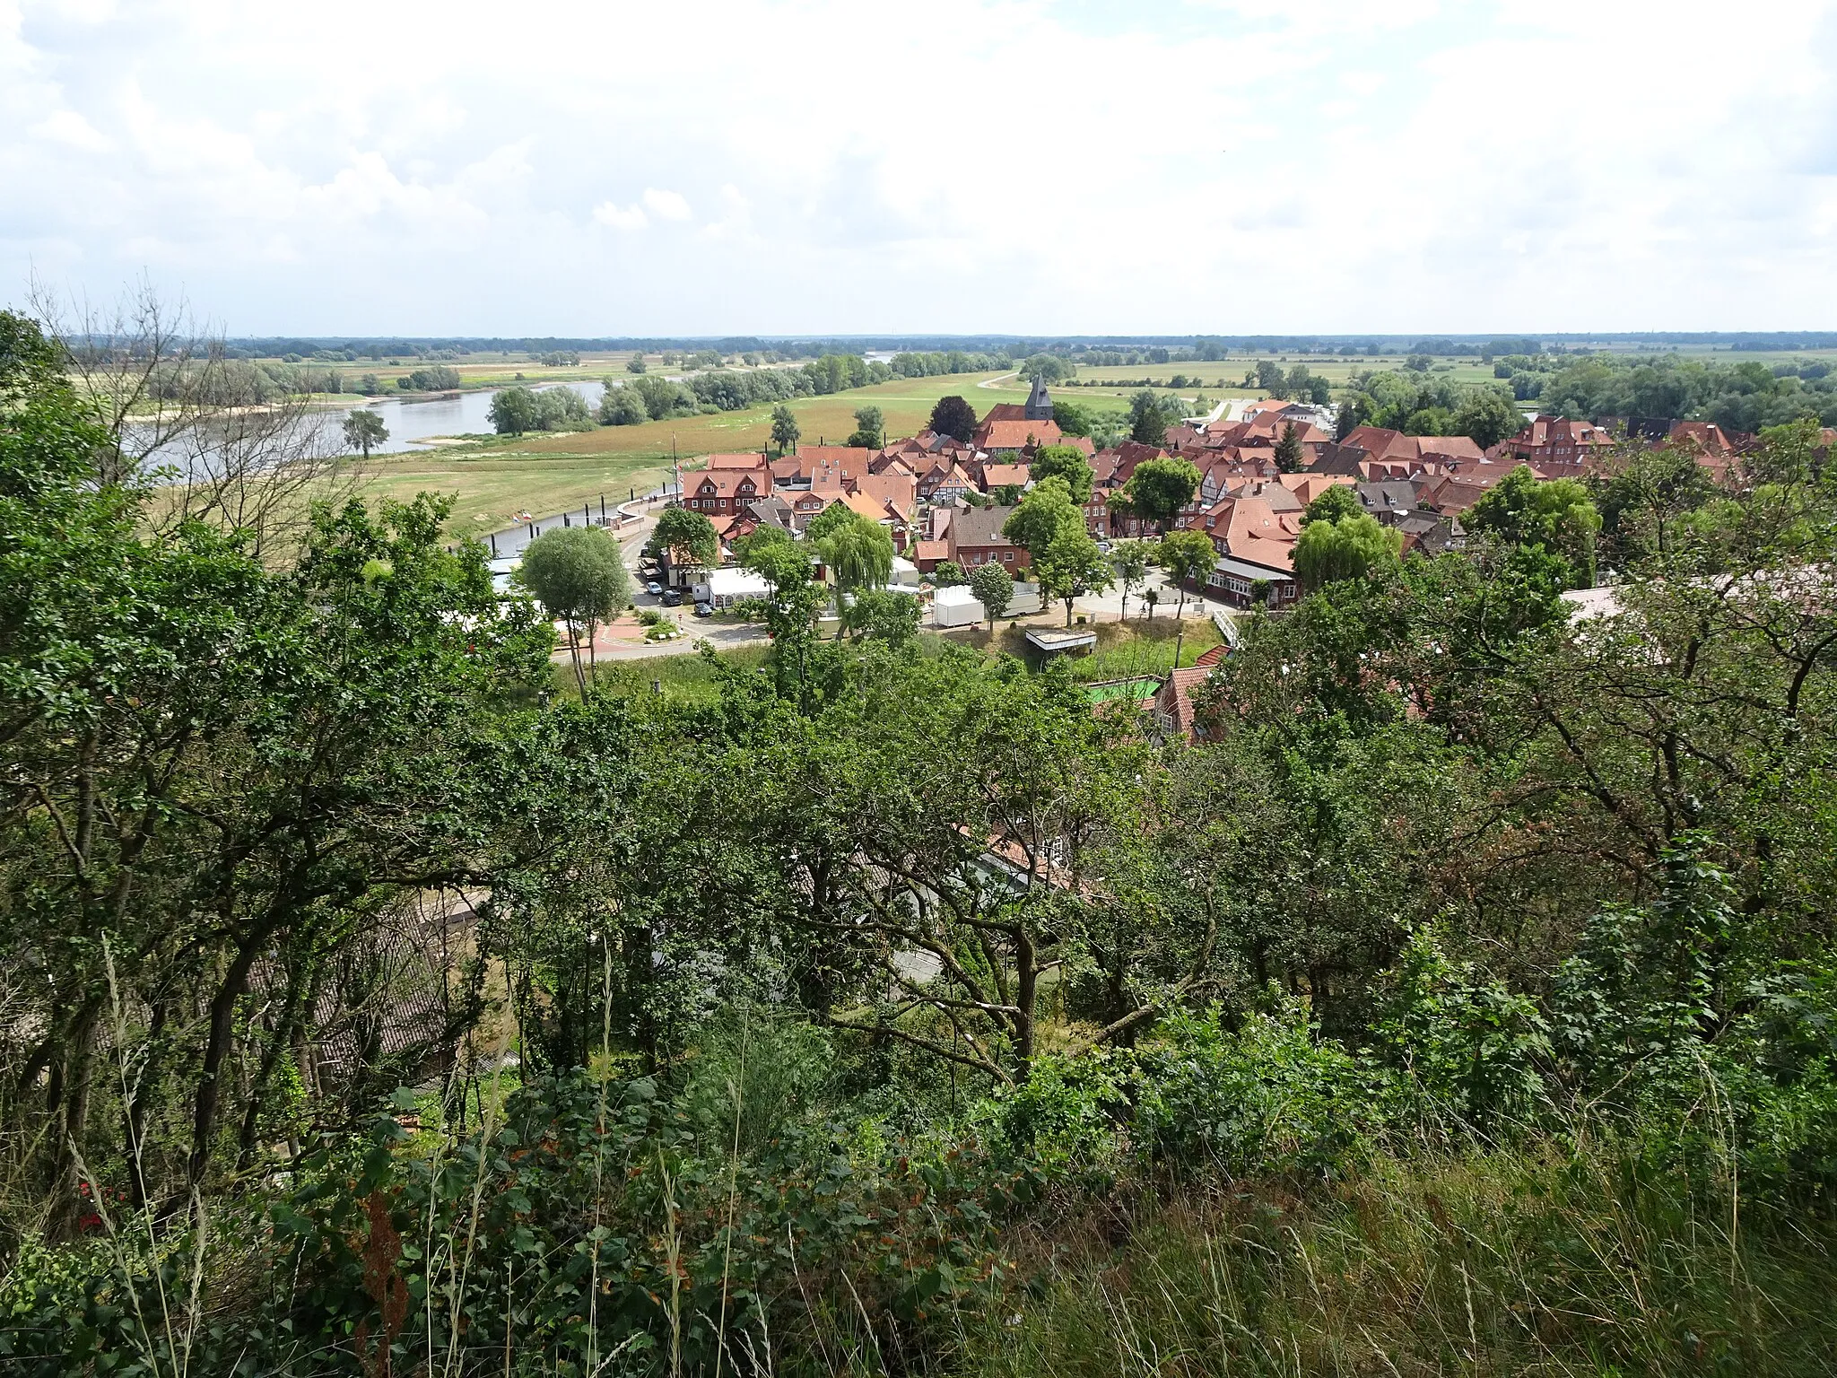
[[[1668,448],[1692,456],[1708,481],[1727,483],[1738,456],[1756,443],[1710,421],[1530,412],[1519,430],[1482,446],[1471,435],[1339,426],[1332,404],[1282,397],[1220,402],[1161,432],[1159,443],[1122,439],[1099,450],[1088,435],[1060,430],[1051,391],[1036,378],[1025,404],[997,402],[975,417],[952,395],[930,428],[880,446],[788,441],[781,454],[709,454],[676,469],[667,498],[676,511],[665,516],[663,538],[645,546],[639,575],[663,606],[693,603],[698,617],[746,614],[775,595],[772,538],[806,542],[841,524],[878,527],[893,555],[874,577],[911,597],[922,625],[950,632],[1032,614],[1025,641],[1040,656],[1089,652],[1097,632],[1088,625],[1124,617],[1132,593],[1137,616],[1178,599],[1176,617],[1212,616],[1225,645],[1192,669],[1170,665],[1157,685],[1137,685],[1132,696],[1196,740],[1205,728],[1194,691],[1229,652],[1236,617],[1291,606],[1326,577],[1297,571],[1310,513],[1369,516],[1391,533],[1396,557],[1435,557],[1464,549],[1462,518],[1514,472],[1536,483],[1600,480],[1629,448]],[[1820,445],[1833,437],[1824,428]],[[1144,467],[1157,480],[1159,505],[1137,498],[1133,480]],[[1069,584],[1049,557],[1042,588],[1036,548],[1058,527],[1016,514],[1049,478],[1076,507],[1089,549],[1073,559]],[[1335,505],[1337,498],[1317,505],[1335,489],[1356,505]],[[1203,544],[1196,551],[1178,533],[1198,533]],[[1003,577],[988,584],[985,575],[981,586],[994,590],[985,606],[975,577],[988,566]],[[819,551],[810,573],[836,586],[821,614],[828,628],[845,621],[851,593],[874,582],[836,579]],[[1574,606],[1593,606],[1582,597],[1593,573],[1578,582]],[[1122,601],[1104,599],[1117,584]],[[1047,627],[1054,595],[1065,603],[1062,632]],[[1111,689],[1097,682],[1091,693],[1104,702]]]

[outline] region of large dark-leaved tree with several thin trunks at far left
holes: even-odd
[[[500,715],[544,687],[555,638],[496,597],[476,544],[446,548],[437,498],[320,503],[285,570],[244,533],[163,527],[151,487],[108,476],[68,358],[0,312],[0,1097],[20,1128],[42,1077],[42,1146],[9,1172],[53,1231],[83,1163],[152,1229],[246,1174],[265,1134],[360,1115],[404,1071],[358,1038],[314,1106],[277,1091],[366,1005],[347,976],[406,893],[490,884],[509,834],[479,786],[522,790]],[[448,1042],[445,996],[423,1011],[408,1062]],[[116,1058],[130,1082],[103,1075]]]

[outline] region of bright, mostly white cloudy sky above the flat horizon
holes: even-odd
[[[1837,329],[1837,0],[0,0],[0,305]]]

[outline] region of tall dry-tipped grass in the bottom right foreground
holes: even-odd
[[[1609,1152],[1110,1203],[1032,1233],[1038,1293],[975,1317],[953,1372],[1831,1372],[1828,1213],[1743,1213]]]

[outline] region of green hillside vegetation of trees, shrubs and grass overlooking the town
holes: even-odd
[[[1187,742],[790,597],[555,695],[445,502],[154,524],[62,364],[0,316],[7,1371],[1831,1369],[1813,426],[1622,456],[1600,616],[1534,514],[1253,616]]]

